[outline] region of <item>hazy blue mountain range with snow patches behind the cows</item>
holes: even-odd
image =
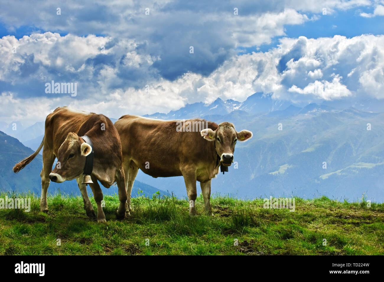
[[[212,194],[248,199],[326,195],[340,200],[364,197],[383,202],[382,109],[383,102],[373,98],[300,105],[257,92],[243,102],[217,98],[209,105],[187,104],[179,110],[144,117],[166,120],[200,117],[216,123],[232,122],[238,131],[253,132],[252,139],[236,145],[234,156],[238,169],[231,166],[228,173],[212,180]],[[25,140],[23,144],[35,150],[44,130],[39,123],[32,128],[22,128],[18,136]],[[28,131],[22,133],[24,130]],[[22,137],[27,132],[29,135]],[[15,135],[12,130],[8,133]],[[39,174],[40,170],[34,177],[40,185]],[[140,171],[136,182],[172,191],[179,197],[186,195],[182,177],[154,179]]]

